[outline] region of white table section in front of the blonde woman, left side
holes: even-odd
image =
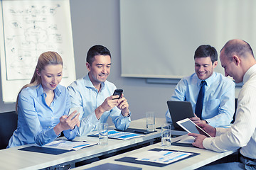
[[[166,123],[165,118],[156,118],[156,128],[160,127],[164,123]],[[145,129],[146,119],[143,118],[139,120],[132,120],[129,128]],[[179,132],[177,133],[179,134]],[[179,135],[183,135],[183,133],[184,132],[181,132]],[[33,145],[23,145],[9,149],[1,149],[0,169],[46,169],[50,166],[58,166],[61,164],[74,164],[75,162],[99,157],[101,155],[117,152],[122,149],[136,147],[146,142],[154,141],[159,137],[161,137],[161,130],[156,129],[156,132],[146,134],[144,137],[137,137],[131,140],[109,139],[107,146],[95,145],[92,147],[82,148],[78,151],[70,151],[58,155],[18,150]],[[76,137],[75,140],[98,142],[97,137]]]

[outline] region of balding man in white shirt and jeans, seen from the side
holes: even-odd
[[[199,123],[212,137],[188,134],[196,137],[193,145],[225,152],[240,148],[240,161],[205,166],[202,169],[256,169],[256,61],[252,48],[243,40],[230,40],[220,50],[220,62],[225,76],[243,82],[238,95],[235,123],[230,128],[213,128]]]

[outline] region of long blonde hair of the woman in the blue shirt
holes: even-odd
[[[51,52],[51,51],[43,52],[38,58],[38,63],[36,64],[36,69],[35,69],[35,72],[33,73],[33,77],[30,83],[23,86],[21,90],[18,92],[18,95],[26,87],[38,86],[39,84],[41,84],[42,80],[41,80],[41,77],[38,76],[37,70],[38,72],[41,72],[49,64],[63,65],[63,60],[57,52]],[[16,113],[18,113],[18,96],[16,99]]]

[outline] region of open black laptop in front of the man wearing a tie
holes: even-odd
[[[193,108],[188,101],[167,101],[174,128],[183,130],[176,122],[185,118],[194,117]]]

